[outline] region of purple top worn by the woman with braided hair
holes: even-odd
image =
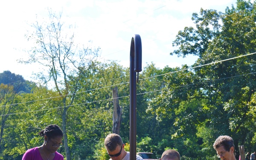
[[[28,149],[23,155],[22,160],[43,160],[37,147]],[[55,156],[52,160],[64,160],[64,157],[55,151]]]

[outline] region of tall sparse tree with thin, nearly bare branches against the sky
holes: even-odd
[[[99,48],[92,49],[76,44],[74,33],[70,34],[70,26],[65,27],[62,21],[62,13],[56,14],[50,9],[48,11],[48,21],[41,23],[37,20],[31,25],[34,32],[30,31],[27,37],[28,41],[34,43],[34,47],[28,52],[29,59],[22,62],[41,64],[45,70],[39,73],[38,77],[45,84],[52,81],[61,97],[64,147],[66,159],[71,160],[67,113],[76,99],[79,79],[98,57]],[[70,85],[70,76],[76,77],[73,79],[73,85]]]

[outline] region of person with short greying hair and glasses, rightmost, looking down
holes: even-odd
[[[217,157],[221,160],[236,160],[234,141],[229,136],[219,136],[214,144],[213,148],[217,151]]]

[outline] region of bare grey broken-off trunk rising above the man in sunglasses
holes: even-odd
[[[121,115],[122,115],[122,108],[119,106],[119,99],[118,99],[118,90],[117,87],[113,88],[113,133],[120,134],[120,123],[121,123]]]

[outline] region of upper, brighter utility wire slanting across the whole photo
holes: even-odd
[[[220,62],[224,62],[224,61],[229,61],[229,60],[232,60],[232,59],[241,58],[241,57],[248,56],[248,55],[253,55],[253,54],[255,54],[255,53],[256,53],[256,52],[249,53],[249,54],[246,54],[246,55],[240,55],[240,56],[237,56],[237,57],[228,58],[228,59],[224,59],[224,60],[221,60],[221,61],[215,61],[215,62],[212,62],[212,63],[203,64],[203,65],[199,65],[199,66],[195,66],[195,67],[189,67],[189,68],[186,68],[186,69],[183,69],[183,70],[177,70],[177,71],[173,71],[173,72],[169,72],[169,73],[164,73],[164,74],[161,74],[161,75],[151,76],[151,77],[147,77],[147,78],[140,79],[140,80],[150,79],[150,78],[154,78],[154,77],[158,77],[158,76],[163,76],[163,75],[167,75],[167,74],[172,74],[172,73],[181,72],[181,71],[184,71],[184,70],[190,70],[190,69],[194,69],[194,68],[198,68],[198,67],[203,67],[203,66],[207,66],[207,65],[210,65],[210,64],[215,64],[215,63],[220,63]],[[77,92],[77,93],[70,93],[70,94],[62,95],[62,96],[68,96],[68,95],[73,95],[73,94],[79,94],[79,93],[89,92],[89,91],[93,91],[93,90],[99,90],[99,89],[108,88],[108,87],[113,87],[113,86],[117,86],[117,85],[121,85],[121,84],[127,84],[127,83],[130,83],[130,82],[124,82],[124,83],[120,83],[120,84],[113,84],[113,85],[111,85],[111,86],[96,88],[96,89],[92,89],[92,90],[85,90],[85,91],[81,91],[81,92]],[[47,99],[53,99],[53,98],[58,98],[58,97],[62,97],[62,96],[55,96],[55,97],[50,97],[50,98],[46,98],[46,99],[38,99],[38,100],[34,100],[34,101],[29,101],[29,102],[21,102],[21,103],[16,103],[16,104],[12,104],[12,105],[19,105],[19,104],[30,103],[30,102],[38,102],[38,101],[47,100]],[[2,105],[2,106],[0,106],[0,107],[12,106],[12,105]]]

